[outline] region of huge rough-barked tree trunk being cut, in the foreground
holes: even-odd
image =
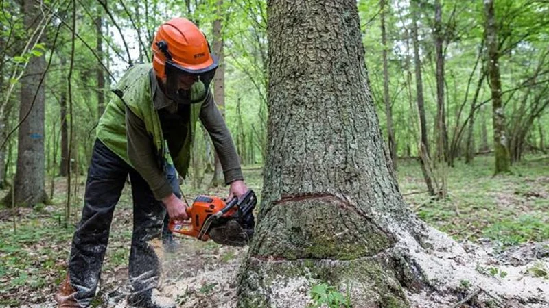
[[[356,1],[272,0],[268,16],[268,155],[238,307],[305,307],[310,279],[353,285],[353,307],[408,307],[421,274],[397,233],[423,224],[385,151]]]

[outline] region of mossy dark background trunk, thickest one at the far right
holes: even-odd
[[[492,120],[493,120],[493,151],[495,154],[494,174],[510,172],[508,138],[505,132],[505,112],[502,104],[502,84],[498,60],[498,29],[495,24],[493,0],[484,0],[484,15],[486,18],[485,34],[488,47],[488,76],[492,90]]]

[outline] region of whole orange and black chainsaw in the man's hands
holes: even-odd
[[[170,220],[168,229],[202,241],[212,239],[218,244],[245,246],[253,237],[256,204],[253,190],[229,202],[217,196],[198,196],[187,207],[189,220]]]

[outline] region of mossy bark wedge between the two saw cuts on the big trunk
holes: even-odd
[[[256,231],[263,235],[261,240],[250,250],[253,255],[288,260],[352,260],[393,246],[390,235],[340,205],[340,200],[325,197],[274,207]]]

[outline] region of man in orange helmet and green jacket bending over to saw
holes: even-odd
[[[113,90],[117,97],[97,125],[69,273],[55,296],[58,307],[87,307],[95,296],[113,210],[128,174],[134,209],[128,303],[174,307],[156,289],[160,264],[149,241],[161,235],[166,211],[170,218],[187,220],[176,174],[187,175],[198,119],[220,157],[229,198],[247,190],[229,130],[209,90],[218,61],[202,31],[185,18],[174,18],[159,27],[152,52],[152,65],[133,66],[121,78]]]

